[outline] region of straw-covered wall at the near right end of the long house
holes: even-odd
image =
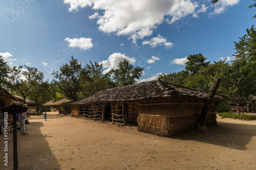
[[[158,136],[173,136],[193,129],[203,104],[191,102],[141,104],[138,131]],[[206,126],[217,124],[215,110],[215,105],[212,104],[205,119]]]

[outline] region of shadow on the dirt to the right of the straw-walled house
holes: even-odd
[[[202,133],[197,130],[190,130],[172,138],[247,150],[246,145],[253,136],[256,136],[256,125],[218,122],[218,125],[209,126],[208,132]]]

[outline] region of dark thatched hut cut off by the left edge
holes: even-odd
[[[0,108],[4,108],[13,104],[15,97],[5,88],[0,86]],[[8,122],[12,122],[12,116],[8,116]]]

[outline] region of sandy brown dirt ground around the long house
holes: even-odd
[[[217,120],[206,133],[168,138],[57,112],[31,116],[29,135],[17,132],[18,169],[256,169],[256,120]],[[0,137],[0,169],[13,169],[9,138],[5,166]]]

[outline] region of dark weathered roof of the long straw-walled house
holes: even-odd
[[[135,101],[167,96],[181,96],[183,98],[206,99],[208,92],[179,86],[161,80],[111,88],[98,91],[86,98],[70,102],[70,105],[83,105],[94,102]],[[213,100],[227,100],[224,95],[215,94]]]

